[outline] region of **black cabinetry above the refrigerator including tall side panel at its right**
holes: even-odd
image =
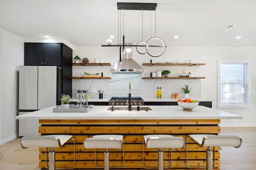
[[[24,43],[24,65],[62,67],[62,94],[72,97],[72,49],[64,43]]]

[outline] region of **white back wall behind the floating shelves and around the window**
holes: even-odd
[[[150,72],[161,71],[163,69],[169,69],[171,71],[170,76],[178,76],[182,73],[182,69],[186,69],[186,73],[192,72],[195,77],[206,77],[201,79],[201,99],[202,100],[213,100],[212,107],[217,107],[217,60],[249,60],[252,63],[251,74],[256,73],[256,47],[167,47],[165,53],[160,57],[150,57],[148,54],[141,55],[137,53],[133,47],[133,59],[140,65],[142,63],[149,63],[150,59],[152,62],[159,61],[176,61],[178,59],[186,60],[191,59],[191,63],[206,63],[205,66],[200,67],[143,67],[144,72],[142,77],[149,77]],[[94,62],[95,57],[104,59],[104,62],[111,63],[114,65],[119,60],[119,47],[81,47],[75,46],[73,50],[73,58],[75,55],[79,55],[80,58],[88,58],[89,62]],[[110,75],[110,67],[74,67],[73,76],[83,76],[84,71],[90,70],[91,72],[103,72],[104,77]],[[85,82],[90,80],[73,80],[76,82],[76,88],[84,89],[86,87]],[[148,80],[142,80],[148,81]],[[151,80],[153,81],[153,80]],[[172,80],[168,80],[172,81]],[[252,103],[250,108],[221,108],[220,110],[228,111],[238,115],[243,115],[242,120],[221,120],[221,126],[256,126],[256,114],[255,105],[253,101],[256,100],[256,77],[251,76],[252,88],[250,93],[252,96]],[[102,81],[103,82],[103,81]],[[102,86],[104,87],[104,82]],[[118,85],[118,83],[116,84]]]

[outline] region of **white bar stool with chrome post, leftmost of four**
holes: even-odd
[[[72,139],[73,138],[73,139]],[[47,148],[50,148],[49,152],[49,168],[47,167],[47,154],[46,154],[46,167],[50,170],[55,170],[55,150],[54,147],[57,148],[64,148],[67,147],[66,142],[68,140],[75,140],[74,136],[72,135],[46,135],[46,136],[24,136],[20,139],[20,146],[23,149],[26,149],[28,147],[46,147],[46,153]],[[75,142],[74,142],[74,148],[75,148]],[[74,149],[75,153],[75,149]],[[74,154],[75,155],[75,154]],[[75,166],[75,156],[74,156],[74,166]],[[74,167],[73,167],[74,168]],[[71,168],[71,169],[73,169]],[[63,168],[67,169],[67,168]]]

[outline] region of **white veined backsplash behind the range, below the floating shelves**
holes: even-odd
[[[91,98],[98,98],[98,90],[104,90],[103,97],[127,96],[131,82],[132,96],[142,98],[156,98],[157,87],[162,88],[162,98],[171,98],[173,93],[180,93],[184,98],[182,87],[189,85],[191,99],[200,100],[200,79],[141,79],[141,74],[112,74],[112,79],[73,79],[72,96],[76,97],[77,89],[86,89]],[[92,93],[96,88],[96,93]]]

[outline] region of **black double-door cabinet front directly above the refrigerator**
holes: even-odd
[[[25,65],[62,65],[61,43],[25,43]]]

